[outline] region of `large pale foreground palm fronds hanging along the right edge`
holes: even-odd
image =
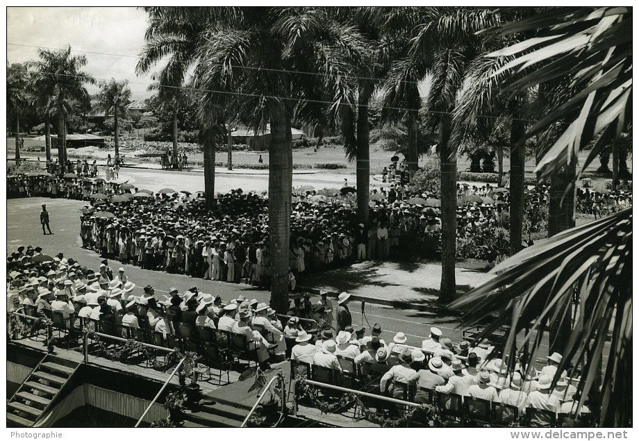
[[[587,160],[577,169],[579,177],[606,144],[629,126],[631,29],[631,8],[613,7],[551,8],[533,19],[499,27],[504,35],[538,31],[534,38],[493,53],[513,57],[504,66],[504,71],[515,73],[515,81],[506,83],[506,90],[520,92],[564,76],[572,82],[570,99],[555,106],[526,133],[532,136],[567,122],[538,163],[541,181],[575,164],[579,151],[594,142]],[[451,305],[468,311],[461,326],[488,319],[486,335],[499,326],[510,326],[506,354],[516,353],[516,335],[524,332],[531,342],[529,359],[534,360],[547,324],[567,315],[577,297],[578,314],[557,377],[574,365],[581,370],[578,390],[582,400],[589,394],[599,395],[597,377],[609,346],[599,424],[631,424],[631,210],[558,233],[551,242],[525,249],[493,271],[497,276],[489,283]],[[514,363],[515,357],[509,360]]]

